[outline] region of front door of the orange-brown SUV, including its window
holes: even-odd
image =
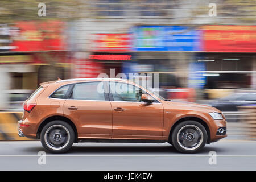
[[[143,90],[126,82],[110,82],[113,139],[162,139],[163,105],[141,101]]]

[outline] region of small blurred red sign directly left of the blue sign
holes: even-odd
[[[93,51],[129,51],[129,34],[95,34]]]

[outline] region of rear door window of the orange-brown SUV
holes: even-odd
[[[103,82],[86,82],[76,84],[71,98],[75,100],[105,100]]]

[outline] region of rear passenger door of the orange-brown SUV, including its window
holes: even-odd
[[[77,83],[64,103],[64,116],[76,123],[79,138],[111,138],[112,107],[104,92],[105,83]]]

